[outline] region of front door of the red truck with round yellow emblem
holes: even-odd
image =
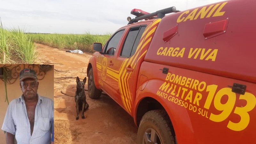
[[[97,59],[97,65],[100,66],[98,70],[99,83],[101,88],[110,96],[113,95],[112,90],[112,71],[109,68],[113,67],[113,56],[116,51],[116,48],[120,44],[120,39],[123,36],[124,29],[117,31],[113,36],[108,40],[104,46],[103,54],[100,55],[100,58]]]

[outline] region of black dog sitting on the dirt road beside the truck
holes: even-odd
[[[83,81],[80,81],[79,77],[76,77],[76,120],[79,119],[79,110],[82,109],[82,118],[84,119],[84,111],[89,107],[88,103],[86,102],[86,97],[84,93],[84,84],[86,82],[86,77]]]

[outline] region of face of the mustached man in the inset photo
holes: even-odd
[[[26,99],[31,99],[36,97],[38,82],[33,78],[26,78],[20,82],[20,88]]]

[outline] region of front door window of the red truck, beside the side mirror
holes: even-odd
[[[108,41],[107,49],[105,50],[106,54],[114,55],[118,42],[120,41],[124,30],[117,32],[112,38]]]

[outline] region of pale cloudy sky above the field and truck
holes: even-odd
[[[1,0],[0,17],[6,29],[31,33],[107,34],[125,26],[132,9],[156,12],[177,10],[222,0]]]

